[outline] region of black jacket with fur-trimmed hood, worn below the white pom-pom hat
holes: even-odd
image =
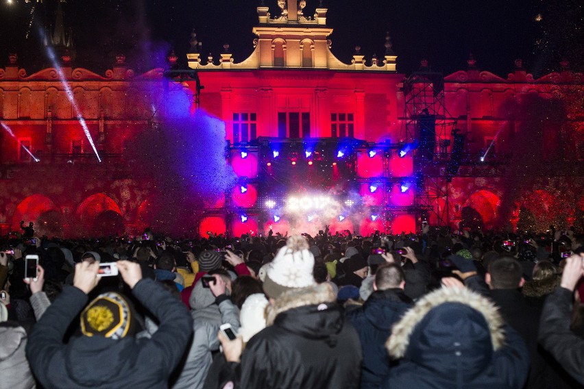
[[[269,306],[267,322],[273,324],[250,339],[241,356],[241,388],[358,388],[359,338],[331,301],[325,284]]]

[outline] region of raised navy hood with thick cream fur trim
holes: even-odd
[[[483,371],[493,352],[503,347],[503,325],[494,303],[480,294],[441,288],[422,297],[393,325],[385,346],[393,358],[445,375],[457,369],[472,375]]]

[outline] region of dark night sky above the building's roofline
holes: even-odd
[[[40,46],[39,25],[54,24],[55,0],[36,3],[12,0],[0,3],[0,64],[8,53],[19,53],[19,64],[31,74],[50,66]],[[75,66],[97,73],[111,68],[115,54],[127,55],[136,71],[165,66],[171,49],[186,67],[191,30],[203,43],[202,53],[215,61],[228,43],[235,62],[252,52],[252,27],[257,24],[255,0],[66,0],[65,23],[73,28],[77,48]],[[305,15],[312,15],[317,0],[308,0]],[[276,0],[266,0],[278,15]],[[502,77],[522,58],[536,77],[558,70],[567,57],[572,68],[583,64],[583,12],[579,0],[325,0],[328,25],[334,32],[332,52],[350,62],[354,47],[369,63],[374,53],[385,53],[389,31],[398,55],[398,71],[409,74],[427,58],[434,71],[445,75],[465,69],[469,53],[481,70]],[[32,6],[34,23],[28,38]],[[539,16],[538,16],[539,15]]]

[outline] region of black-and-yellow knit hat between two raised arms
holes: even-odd
[[[134,333],[130,305],[121,294],[100,294],[81,312],[81,331],[85,336],[104,336],[118,340]]]

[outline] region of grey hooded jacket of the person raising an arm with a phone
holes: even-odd
[[[226,294],[215,298],[209,288],[203,287],[202,281],[195,283],[189,303],[195,332],[173,389],[202,388],[213,362],[212,351],[219,350],[219,327],[229,323],[234,333],[239,330],[237,307]]]

